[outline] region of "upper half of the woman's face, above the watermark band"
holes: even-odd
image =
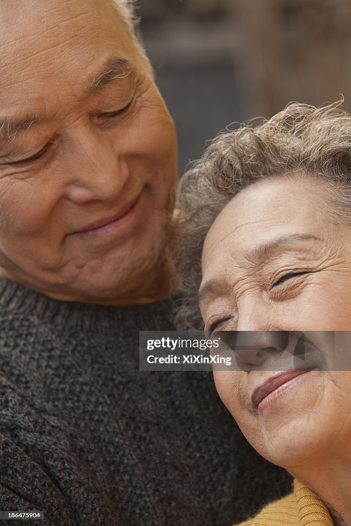
[[[230,201],[204,244],[206,327],[351,328],[351,230],[333,221],[327,192],[322,179],[276,177]]]

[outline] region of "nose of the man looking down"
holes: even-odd
[[[116,200],[128,179],[126,160],[116,147],[86,129],[76,140],[68,157],[69,182],[66,197],[75,204]]]

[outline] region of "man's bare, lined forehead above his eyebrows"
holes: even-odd
[[[62,80],[60,91],[65,81],[75,87],[82,80],[94,87],[109,77],[129,75],[128,62],[138,63],[140,54],[111,4],[102,1],[106,13],[100,0],[18,0],[33,9],[25,13],[14,8],[12,29],[1,24],[0,2],[0,112],[12,103],[12,95],[17,100],[31,89],[40,93],[57,79]]]

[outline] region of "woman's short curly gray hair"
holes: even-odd
[[[300,171],[326,177],[336,213],[351,224],[351,115],[339,101],[323,108],[292,103],[262,124],[219,134],[180,180],[174,262],[179,276],[179,329],[201,329],[198,308],[206,234],[241,189]]]

